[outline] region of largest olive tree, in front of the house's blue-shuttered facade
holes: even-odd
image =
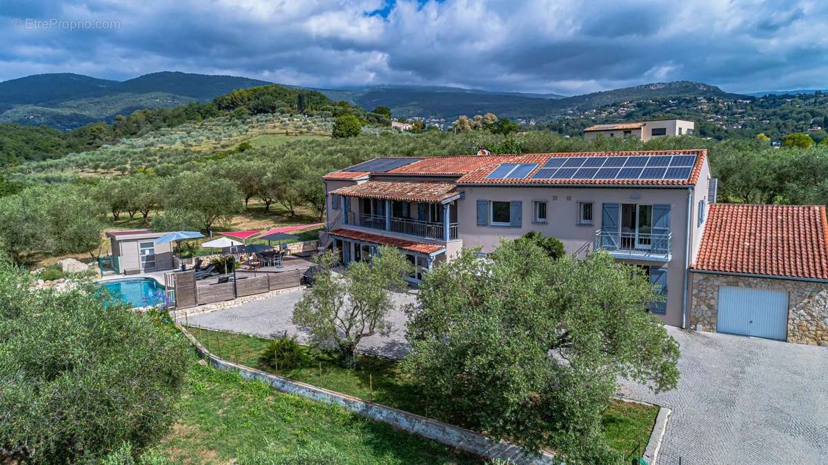
[[[604,252],[554,259],[532,241],[465,250],[426,275],[403,362],[444,419],[566,463],[616,463],[600,418],[619,376],[676,387],[678,344],[641,271]]]

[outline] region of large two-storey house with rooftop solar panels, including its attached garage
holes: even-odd
[[[724,205],[710,206],[716,180],[705,150],[380,158],[322,180],[322,245],[345,264],[397,247],[416,284],[461,247],[492,252],[501,237],[539,231],[577,256],[603,248],[640,266],[666,295],[650,310],[667,324],[802,343],[825,334],[828,345],[825,209],[775,206],[767,222],[739,210],[729,222]],[[802,218],[806,229],[795,227]],[[711,219],[715,235],[704,235]],[[721,237],[749,245],[723,249]],[[741,266],[753,264],[746,250],[782,265]]]

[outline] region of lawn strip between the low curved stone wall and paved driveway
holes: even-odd
[[[190,332],[219,357],[265,372],[276,372],[260,360],[269,343],[267,339],[199,328],[190,328]],[[349,370],[341,367],[335,356],[322,353],[305,367],[279,371],[278,374],[400,410],[432,416],[429,415],[428,400],[402,375],[397,362],[362,356],[360,365],[359,370]],[[657,407],[614,401],[602,419],[604,434],[610,445],[625,456],[635,449],[640,455],[647,447],[656,415]]]

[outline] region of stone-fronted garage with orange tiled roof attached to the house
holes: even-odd
[[[828,346],[826,234],[822,205],[710,205],[691,267],[691,324]]]

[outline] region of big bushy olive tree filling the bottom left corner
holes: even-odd
[[[38,290],[0,258],[0,450],[12,462],[100,463],[169,431],[190,359],[151,314],[92,285]]]

